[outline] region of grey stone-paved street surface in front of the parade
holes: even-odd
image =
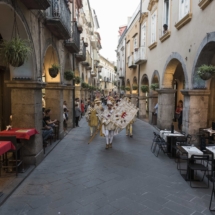
[[[113,149],[97,136],[88,145],[85,120],[73,129],[0,208],[1,215],[199,215],[210,189],[192,189],[174,160],[150,152],[153,128],[137,120]]]

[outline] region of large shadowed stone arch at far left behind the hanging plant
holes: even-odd
[[[29,56],[28,60],[22,66],[16,68],[10,66],[11,78],[28,77],[35,80],[39,75],[37,75],[35,47],[28,23],[17,3],[14,8],[12,1],[0,0],[0,5],[0,34],[2,38],[4,40],[11,39],[15,10],[20,38],[29,40],[33,50],[31,56]],[[7,18],[5,19],[5,17]]]

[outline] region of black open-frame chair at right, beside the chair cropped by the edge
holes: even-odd
[[[192,179],[191,179],[191,172],[197,173],[197,171],[204,172],[204,175],[202,177],[203,181],[206,175],[206,172],[209,172],[208,163],[209,163],[209,155],[192,155],[191,158],[188,160],[188,166],[187,166],[187,176],[189,176],[190,180],[190,187],[192,188],[208,188],[209,187],[209,177],[208,177],[208,183],[207,186],[204,187],[194,187],[192,186]],[[196,180],[195,180],[196,181]]]

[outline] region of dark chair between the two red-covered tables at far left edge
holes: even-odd
[[[7,153],[6,152],[6,160],[4,161],[1,168],[3,169],[9,169],[9,168],[15,168],[16,169],[16,176],[18,175],[18,167],[23,163],[21,159],[21,143],[17,143],[16,136],[0,136],[0,141],[10,141],[15,146],[14,150],[9,150],[8,152],[13,152],[15,155],[15,160],[8,160]],[[9,165],[9,163],[15,163],[14,165]],[[1,173],[1,169],[0,169]]]

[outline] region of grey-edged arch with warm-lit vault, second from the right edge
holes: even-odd
[[[186,65],[182,56],[177,52],[173,52],[166,61],[166,64],[164,66],[164,71],[163,71],[163,77],[162,77],[162,88],[172,88],[173,75],[178,66],[181,66],[184,74],[185,89],[189,88]]]

